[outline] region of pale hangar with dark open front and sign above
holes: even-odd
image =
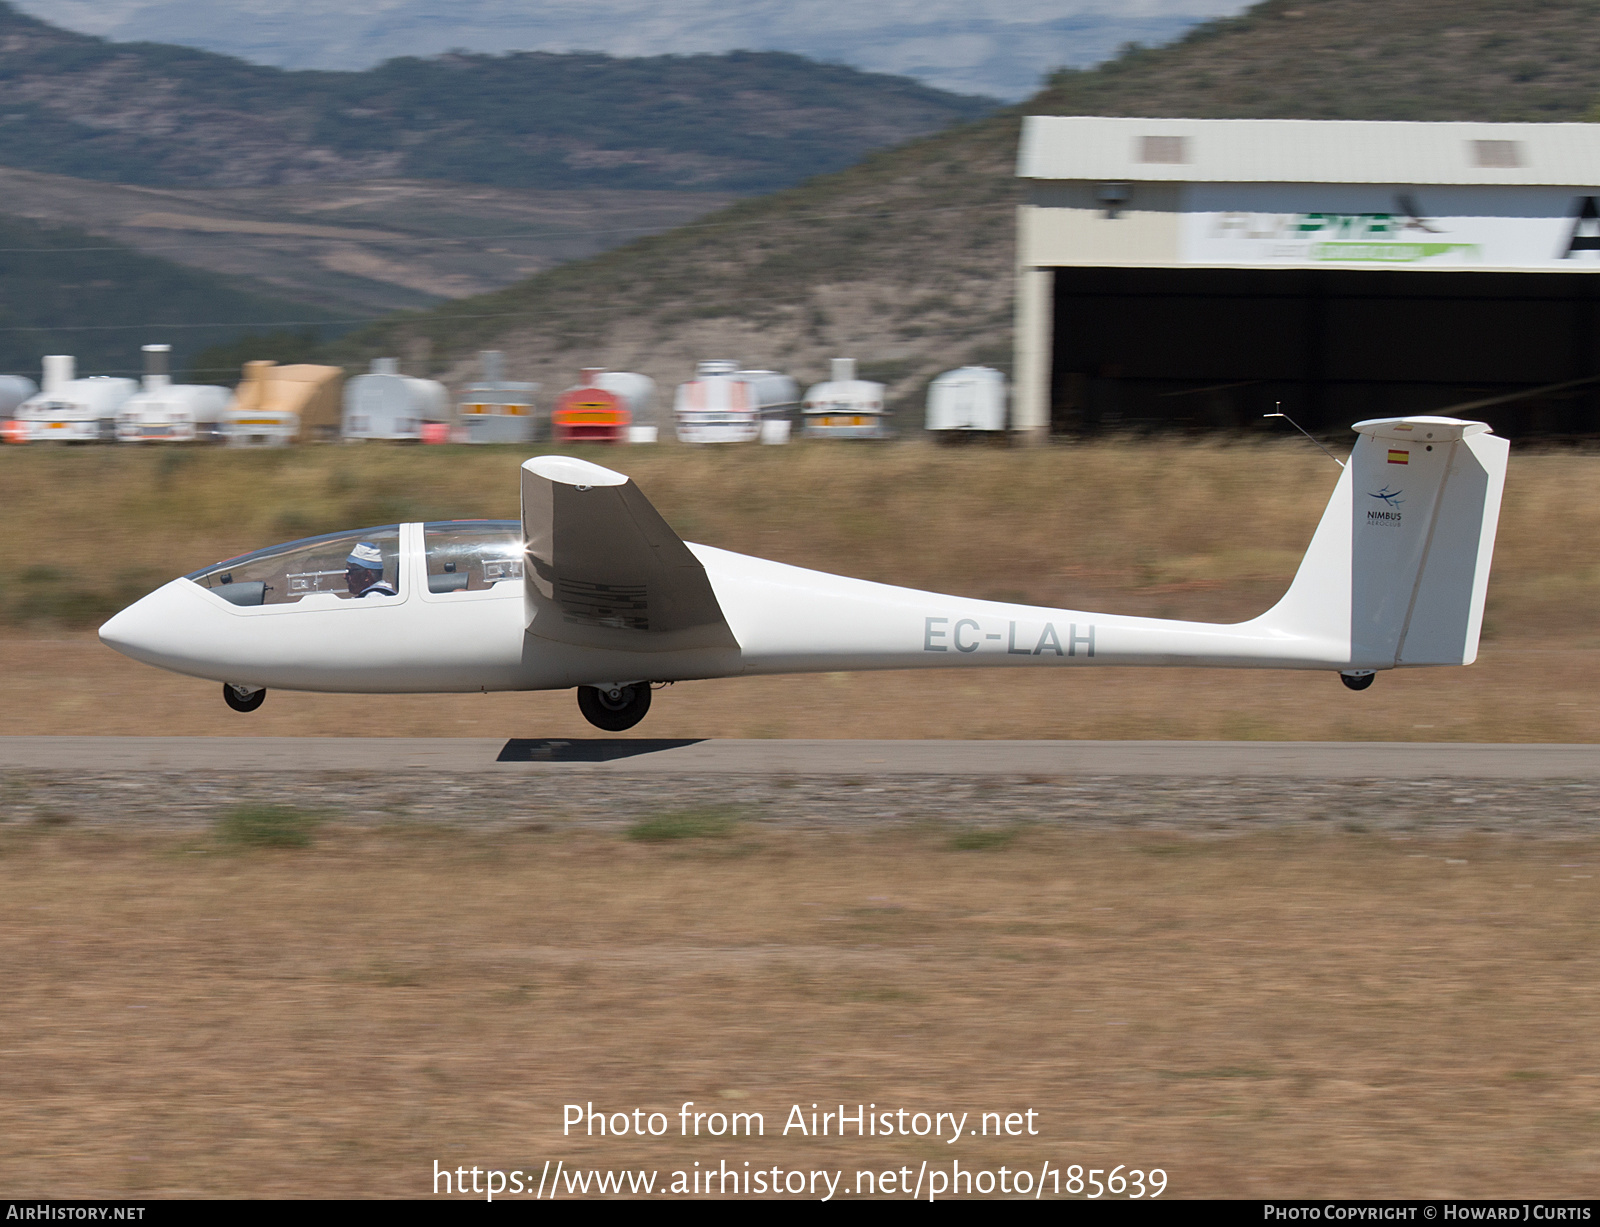
[[[1600,435],[1600,125],[1030,115],[1014,427]]]

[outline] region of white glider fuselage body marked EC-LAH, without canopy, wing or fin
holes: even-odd
[[[402,526],[402,541],[419,525]],[[690,547],[736,648],[630,653],[544,638],[523,627],[523,586],[419,592],[422,560],[400,566],[397,597],[312,594],[235,606],[174,579],[101,637],[147,664],[270,689],[445,693],[563,689],[602,681],[869,669],[1208,662],[1350,667],[1338,645],[1256,622],[1214,625],[966,600],[846,579],[709,546]],[[405,558],[405,552],[402,552]]]

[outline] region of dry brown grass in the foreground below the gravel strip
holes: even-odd
[[[686,819],[666,824],[685,832]],[[398,1195],[432,1165],[1162,1168],[1168,1197],[1584,1197],[1594,840],[1022,825],[0,838],[0,1187]],[[765,1136],[675,1136],[678,1105]],[[565,1104],[669,1136],[563,1137]],[[1034,1137],[782,1136],[792,1104]]]

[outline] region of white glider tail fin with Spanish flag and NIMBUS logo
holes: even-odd
[[[1349,669],[1472,664],[1509,445],[1456,418],[1355,430],[1294,582],[1261,621]]]

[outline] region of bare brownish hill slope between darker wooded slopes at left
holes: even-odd
[[[731,192],[541,190],[450,179],[146,187],[0,166],[0,211],[75,226],[259,293],[374,320],[485,294],[670,230]]]

